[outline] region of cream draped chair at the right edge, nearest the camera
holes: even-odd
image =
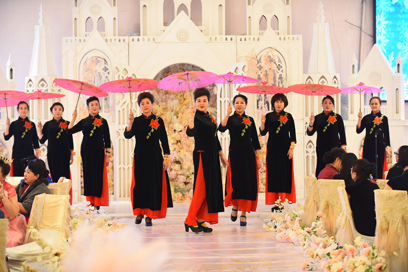
[[[374,246],[392,258],[390,271],[408,271],[408,196],[406,191],[374,190]],[[399,256],[393,257],[396,252]]]

